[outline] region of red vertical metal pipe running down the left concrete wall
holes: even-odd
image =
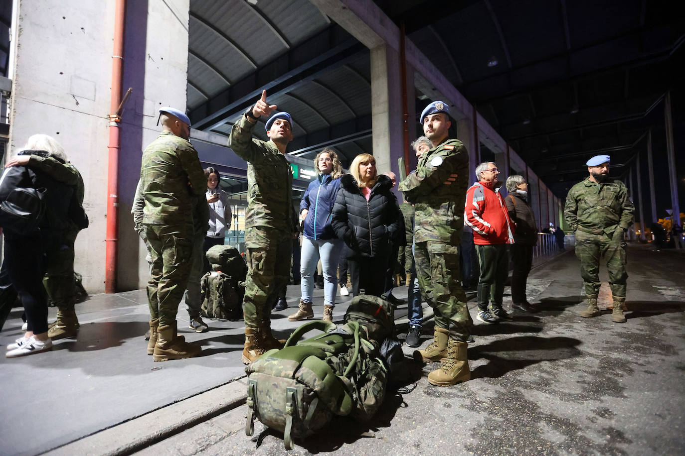
[[[116,0],[114,6],[114,50],[112,51],[112,94],[110,96],[110,126],[107,172],[107,234],[105,237],[105,293],[116,293],[117,223],[119,214],[119,122],[117,109],[121,103],[123,76],[124,23],[126,0]]]

